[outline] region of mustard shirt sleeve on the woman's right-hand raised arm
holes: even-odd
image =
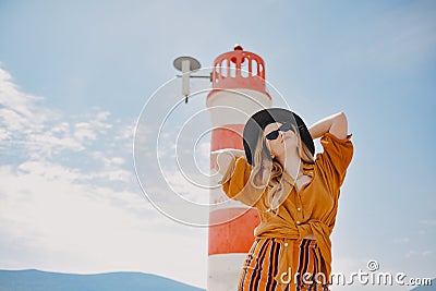
[[[347,168],[353,157],[351,134],[340,140],[331,133],[326,133],[320,138],[324,153],[318,154],[317,162],[322,168],[325,179],[334,193],[339,193],[346,178]]]

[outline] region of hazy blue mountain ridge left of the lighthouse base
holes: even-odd
[[[74,275],[40,270],[0,270],[0,291],[205,291],[143,272]]]

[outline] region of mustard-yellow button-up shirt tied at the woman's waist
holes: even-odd
[[[287,246],[288,240],[301,240],[313,233],[322,255],[322,271],[327,280],[331,271],[329,237],[338,211],[340,186],[353,156],[350,138],[351,135],[348,135],[346,140],[339,140],[330,133],[320,138],[324,151],[316,155],[314,165],[304,165],[303,173],[312,179],[300,191],[292,187],[294,180],[283,171],[284,191],[291,193],[280,205],[277,215],[267,211],[269,186],[255,189],[249,182],[252,166],[244,157],[234,158],[221,180],[222,190],[230,198],[257,208],[261,223],[254,230],[255,237],[282,239]],[[291,242],[289,245],[292,245]],[[292,266],[292,255],[291,247],[288,251],[281,247],[276,277],[279,283],[282,283],[280,276]]]

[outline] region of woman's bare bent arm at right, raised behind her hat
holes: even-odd
[[[308,129],[308,132],[311,133],[313,140],[322,137],[327,132],[331,133],[339,140],[343,140],[348,134],[347,117],[343,112],[329,116],[315,122]]]

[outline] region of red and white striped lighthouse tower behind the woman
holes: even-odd
[[[271,106],[265,86],[264,60],[239,45],[216,58],[213,90],[206,105],[214,126],[210,150],[243,149],[242,132],[246,120]],[[210,165],[214,168],[214,163]],[[233,291],[259,218],[256,209],[228,199],[220,187],[210,191],[210,204],[207,290]]]

